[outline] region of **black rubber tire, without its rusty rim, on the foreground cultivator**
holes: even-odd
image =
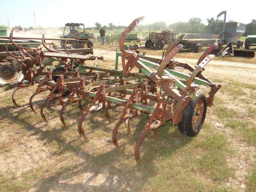
[[[187,136],[195,136],[196,134],[198,134],[204,124],[204,119],[206,116],[206,110],[207,110],[207,101],[206,101],[206,95],[204,94],[204,92],[202,90],[199,90],[196,92],[196,100],[190,100],[190,102],[188,103],[188,105],[186,106],[186,108],[183,110],[182,112],[182,120],[181,122],[178,123],[178,128],[180,133],[187,135]],[[197,127],[194,127],[192,124],[192,119],[194,116],[194,109],[196,107],[196,103],[202,100],[203,105],[204,105],[204,110],[203,110],[203,114],[202,114],[202,119],[200,124]]]

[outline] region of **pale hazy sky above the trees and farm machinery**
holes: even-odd
[[[68,22],[84,23],[86,27],[93,27],[96,22],[102,26],[109,23],[127,26],[139,16],[145,16],[140,24],[164,21],[169,25],[192,17],[201,18],[207,24],[206,18],[216,18],[223,10],[227,11],[227,21],[247,24],[256,19],[255,0],[161,0],[157,3],[157,0],[0,0],[0,24],[8,26],[9,19],[10,27],[34,27],[34,12],[36,26],[43,28],[60,27]]]

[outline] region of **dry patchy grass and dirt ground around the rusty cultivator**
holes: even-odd
[[[116,48],[94,47],[96,56],[108,52],[99,67],[114,69]],[[160,50],[140,52],[162,56]],[[180,52],[176,60],[195,65],[201,54]],[[65,128],[57,101],[46,107],[49,122],[42,120],[39,107],[47,93],[34,98],[34,114],[28,101],[36,86],[19,91],[19,108],[11,101],[14,86],[1,87],[0,191],[256,191],[256,58],[214,58],[203,74],[222,87],[200,133],[190,138],[166,122],[159,140],[153,134],[144,140],[140,166],[133,150],[147,114],[132,118],[132,134],[121,126],[115,148],[112,129],[122,107],[110,108],[110,122],[104,110],[89,116],[85,140],[77,132],[75,104],[65,112]]]

